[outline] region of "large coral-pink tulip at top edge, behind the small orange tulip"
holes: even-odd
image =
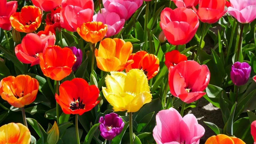
[[[63,0],[60,11],[61,27],[76,32],[83,23],[92,21],[93,12],[92,0]]]

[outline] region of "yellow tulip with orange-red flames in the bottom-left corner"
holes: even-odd
[[[0,127],[1,144],[29,144],[31,134],[29,129],[20,123],[9,123]]]

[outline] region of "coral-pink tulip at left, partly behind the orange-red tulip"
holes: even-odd
[[[44,53],[48,46],[55,44],[56,38],[54,35],[39,37],[36,34],[27,34],[21,44],[15,47],[15,54],[19,61],[25,64],[39,64],[39,53]]]

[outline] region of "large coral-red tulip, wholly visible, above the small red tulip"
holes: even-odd
[[[178,7],[174,10],[167,7],[161,12],[160,19],[160,27],[167,41],[172,45],[188,43],[199,26],[196,13],[185,7]]]

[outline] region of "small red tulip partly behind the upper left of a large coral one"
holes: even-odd
[[[177,50],[172,50],[170,52],[165,53],[165,65],[169,69],[170,67],[175,66],[176,64],[187,61],[186,55],[180,54]]]

